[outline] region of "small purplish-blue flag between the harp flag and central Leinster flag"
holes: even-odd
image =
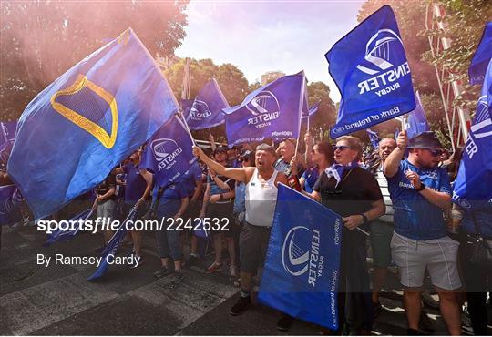
[[[224,123],[222,109],[229,107],[219,84],[215,78],[210,79],[200,89],[197,97],[186,116],[186,122],[191,130],[213,128]]]

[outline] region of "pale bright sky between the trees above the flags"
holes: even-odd
[[[237,66],[250,83],[267,71],[304,70],[323,81],[333,101],[340,94],[324,54],[357,25],[364,0],[212,1],[191,0],[187,37],[179,57],[211,58]]]

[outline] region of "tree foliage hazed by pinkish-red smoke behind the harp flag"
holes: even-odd
[[[152,55],[172,55],[186,36],[188,2],[3,0],[0,118],[19,117],[56,77],[128,27]]]

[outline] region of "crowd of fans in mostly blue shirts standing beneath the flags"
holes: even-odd
[[[379,148],[365,153],[359,138],[350,136],[336,139],[333,145],[314,142],[306,134],[302,153],[296,152],[296,139],[291,138],[283,139],[276,148],[272,142],[228,148],[210,140],[210,157],[194,147],[200,160],[166,186],[154,184],[151,172],[139,168],[141,149],[132,153],[95,189],[97,217],[122,220],[137,206],[139,218],[227,219],[228,230],[210,232],[214,259],[205,271],[224,271],[227,264],[231,282],[241,289],[231,308],[231,315],[239,315],[250,308],[251,291],[261,280],[277,186],[284,183],[343,217],[338,292],[341,328],[338,332],[322,329],[323,333],[371,332],[383,310],[380,295],[388,268],[394,266],[404,287],[407,334],[432,332],[421,296],[428,291],[436,291],[450,334],[461,334],[464,307],[474,332],[487,334],[492,266],[473,260],[473,239],[477,234],[492,239],[492,200],[473,212],[452,204],[462,148],[447,158],[430,131],[412,139],[405,131],[396,139],[383,138]],[[5,170],[0,182],[10,183]],[[62,209],[54,217],[65,215]],[[103,233],[105,244],[112,235]],[[177,286],[185,277],[183,267],[201,259],[200,237],[192,230],[166,228],[155,235],[161,267],[154,276],[172,275],[171,284]],[[131,230],[127,241],[133,247],[131,254],[140,257],[131,268],[138,268],[145,262],[141,259],[142,232]],[[190,243],[186,258],[185,241]],[[368,250],[374,266],[372,279]],[[428,277],[432,289],[425,287]],[[277,328],[287,331],[292,322],[292,317],[282,314]]]

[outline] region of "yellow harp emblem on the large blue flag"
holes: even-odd
[[[57,97],[75,95],[84,87],[87,87],[90,90],[94,91],[98,97],[101,97],[108,103],[111,109],[111,117],[112,117],[110,135],[104,128],[101,128],[92,120],[87,119],[87,117],[80,115],[76,111],[72,110],[69,107],[64,106],[61,103],[56,102]],[[116,99],[115,97],[113,97],[113,95],[109,94],[108,91],[106,91],[102,87],[98,87],[94,82],[89,81],[86,76],[79,74],[72,86],[57,91],[51,97],[51,106],[61,116],[66,117],[69,121],[71,121],[78,127],[83,128],[89,134],[97,138],[97,140],[99,140],[105,148],[113,148],[113,146],[115,145],[117,134],[118,134],[118,106],[117,106]]]

